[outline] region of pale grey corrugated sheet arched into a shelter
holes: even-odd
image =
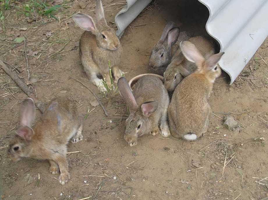
[[[115,18],[118,36],[150,1],[127,0],[127,6]],[[219,65],[232,84],[268,35],[268,0],[198,1],[210,12],[206,30],[225,52]]]

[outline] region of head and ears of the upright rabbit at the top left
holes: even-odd
[[[104,18],[102,1],[97,0],[96,20],[86,14],[74,14],[74,22],[82,29],[90,31],[96,37],[97,45],[102,49],[114,51],[120,47],[120,41],[113,28],[110,28]]]

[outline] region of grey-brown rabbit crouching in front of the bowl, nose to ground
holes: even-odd
[[[137,81],[133,93],[124,77],[118,80],[118,89],[129,108],[124,139],[132,147],[138,144],[138,137],[152,132],[163,137],[170,135],[167,122],[169,97],[162,81],[156,76],[145,75]]]

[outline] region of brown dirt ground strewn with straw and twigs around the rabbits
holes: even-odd
[[[17,6],[21,4],[17,2]],[[69,152],[79,152],[68,154],[71,179],[65,185],[56,180],[58,175],[49,173],[47,161],[11,162],[6,154],[7,145],[15,134],[20,103],[26,94],[0,69],[2,199],[260,200],[268,196],[268,181],[264,179],[268,176],[266,142],[243,142],[267,138],[268,39],[232,85],[224,73],[216,80],[209,99],[215,115],[203,138],[183,142],[172,137],[144,135],[138,145],[129,147],[123,139],[126,117],[123,100],[119,95],[102,98],[88,81],[79,59],[79,37],[83,31],[70,17],[79,11],[94,15],[95,1],[64,0],[62,5],[55,14],[60,21],[35,13],[26,19],[14,9],[6,10],[0,31],[0,55],[12,65],[8,67],[16,68],[13,72],[29,84],[41,101],[68,95],[77,103],[84,123],[84,140],[68,145]],[[103,0],[103,5],[108,24],[116,28],[114,17],[125,1]],[[31,19],[36,15],[37,22]],[[208,15],[198,1],[153,1],[120,40],[124,49],[120,68],[127,72],[125,77],[129,80],[149,72],[150,51],[166,22],[173,20],[181,25],[181,30],[202,35]],[[26,31],[19,30],[25,27]],[[30,81],[27,81],[24,45],[11,49],[15,45],[13,40],[23,35],[27,38]],[[91,106],[95,101],[93,95],[70,77],[98,94],[109,117],[105,117],[100,106]],[[238,128],[229,131],[223,127],[226,115],[234,117]],[[243,145],[235,148],[239,142]]]

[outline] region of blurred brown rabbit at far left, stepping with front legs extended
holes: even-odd
[[[55,98],[31,127],[35,118],[33,99],[22,102],[19,128],[16,135],[9,141],[8,156],[16,162],[22,158],[48,160],[49,171],[58,174],[59,182],[64,185],[70,179],[66,158],[67,144],[83,140],[82,124],[79,121],[76,105],[67,98]]]

